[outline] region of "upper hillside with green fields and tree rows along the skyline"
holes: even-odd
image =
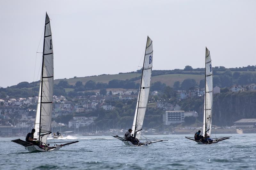
[[[256,83],[256,66],[239,68],[225,68],[223,66],[213,68],[213,86],[220,88],[233,85],[249,85]],[[54,95],[70,96],[78,95],[77,92],[95,92],[100,89],[138,89],[141,79],[141,69],[129,73],[114,75],[99,75],[87,77],[74,77],[54,80]],[[175,90],[188,90],[189,88],[204,88],[204,68],[193,69],[186,66],[183,70],[153,70],[151,79],[151,91],[162,91],[166,86]],[[12,97],[31,97],[38,93],[39,81],[20,82],[7,88],[0,88],[0,97],[6,95]],[[109,91],[109,90],[108,90]],[[226,90],[227,91],[227,90]],[[72,92],[76,92],[71,94]],[[92,93],[91,93],[92,94]],[[81,95],[81,94],[80,94]]]

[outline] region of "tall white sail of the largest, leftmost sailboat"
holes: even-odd
[[[44,26],[44,48],[42,74],[36,109],[35,138],[43,143],[47,142],[47,134],[52,124],[52,96],[53,96],[53,48],[50,18],[46,13]]]

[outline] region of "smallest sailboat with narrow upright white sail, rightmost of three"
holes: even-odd
[[[205,87],[204,87],[204,125],[202,138],[186,137],[196,141],[197,144],[214,144],[229,139],[229,137],[211,138],[212,128],[212,103],[213,103],[213,82],[212,82],[212,60],[210,51],[205,49]]]

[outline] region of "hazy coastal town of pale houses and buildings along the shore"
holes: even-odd
[[[256,91],[256,85],[234,85],[228,88],[228,92],[244,92],[244,91]],[[96,95],[92,96],[76,96],[74,98],[68,98],[65,96],[53,96],[53,111],[52,111],[52,130],[63,130],[71,134],[81,135],[110,135],[112,133],[123,133],[126,129],[123,127],[110,128],[104,127],[102,129],[94,128],[94,121],[98,116],[90,116],[90,112],[103,109],[105,111],[115,110],[116,106],[112,106],[113,101],[119,101],[127,103],[136,101],[138,94],[136,90],[124,90],[124,89],[112,89],[112,91],[106,91],[105,95],[100,92],[95,92]],[[220,93],[220,87],[215,86],[213,89],[214,94]],[[179,105],[174,105],[170,101],[171,99],[154,100],[154,96],[157,96],[158,92],[151,92],[151,100],[148,101],[149,107],[156,107],[164,110],[163,125],[174,128],[172,131],[159,130],[148,128],[145,130],[148,134],[186,134],[193,133],[199,127],[179,127],[179,123],[184,122],[186,117],[198,117],[196,111],[184,111],[181,110]],[[188,98],[195,98],[204,96],[204,89],[193,90],[176,90],[176,96],[178,100],[184,100]],[[153,100],[152,100],[153,99]],[[0,136],[24,136],[30,129],[34,127],[36,116],[36,105],[38,97],[28,98],[6,98],[0,99]],[[75,115],[76,114],[76,115]],[[79,115],[80,114],[80,115]],[[78,116],[79,115],[79,116]],[[69,116],[68,122],[56,122],[56,118]],[[60,119],[59,119],[60,120]],[[256,119],[241,119],[234,122],[231,127],[213,127],[217,130],[217,133],[242,133],[241,128],[246,128],[248,133],[255,130]],[[112,122],[113,123],[113,122]],[[85,130],[86,127],[91,127],[90,130]],[[251,130],[248,130],[251,129]],[[81,130],[83,129],[83,130]],[[237,130],[238,129],[238,130]],[[67,134],[68,134],[67,133]],[[246,133],[246,130],[244,131]]]

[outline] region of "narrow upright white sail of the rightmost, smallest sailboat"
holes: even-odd
[[[203,134],[211,136],[212,127],[212,101],[213,101],[213,85],[212,85],[212,60],[210,51],[205,51],[205,90],[204,90],[204,127]]]

